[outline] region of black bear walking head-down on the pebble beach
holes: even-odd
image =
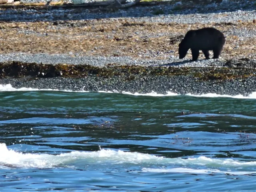
[[[209,50],[212,50],[213,58],[216,59],[219,58],[224,43],[224,34],[215,28],[189,30],[179,44],[179,58],[183,59],[191,49],[193,61],[198,59],[199,50],[202,50],[206,59],[209,59]]]

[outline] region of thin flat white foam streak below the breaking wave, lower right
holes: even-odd
[[[212,174],[212,173],[220,173],[220,174],[230,174],[230,175],[249,175],[256,174],[256,172],[252,171],[220,171],[218,169],[208,170],[208,169],[191,169],[191,168],[142,168],[143,172],[155,172],[155,173],[190,173],[190,174]]]

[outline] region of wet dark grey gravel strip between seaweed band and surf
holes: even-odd
[[[198,81],[189,76],[148,76],[136,77],[135,80],[127,80],[121,77],[102,78],[89,76],[87,78],[3,78],[0,84],[11,84],[14,88],[38,88],[58,89],[71,91],[112,91],[116,93],[151,93],[201,95],[207,93],[225,95],[248,96],[256,91],[256,77],[249,77],[244,80],[226,80],[222,82]]]

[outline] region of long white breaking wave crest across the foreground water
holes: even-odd
[[[23,168],[53,168],[59,166],[75,165],[76,162],[83,164],[140,164],[142,167],[147,165],[152,166],[179,166],[179,167],[208,167],[209,170],[216,168],[234,168],[234,169],[254,169],[256,161],[239,161],[223,158],[208,158],[200,156],[198,158],[164,158],[151,154],[143,154],[139,152],[125,152],[122,150],[99,150],[88,152],[66,152],[58,155],[53,154],[34,154],[22,153],[8,149],[5,143],[0,143],[0,169],[1,166],[8,167],[23,167]],[[170,172],[172,169],[161,170],[145,170],[150,172]]]

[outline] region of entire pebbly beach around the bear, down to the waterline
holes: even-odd
[[[255,92],[254,1],[175,3],[115,12],[0,8],[0,84],[90,92]],[[226,36],[221,58],[204,60],[201,54],[191,62],[189,53],[179,60],[186,31],[206,26]]]

